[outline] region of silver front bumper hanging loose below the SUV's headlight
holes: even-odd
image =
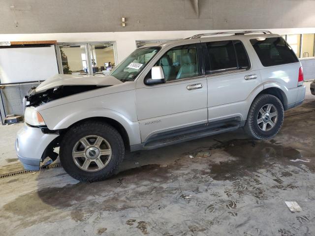
[[[24,125],[17,133],[15,149],[24,168],[39,170],[40,159],[47,146],[59,135],[44,134],[40,128]]]

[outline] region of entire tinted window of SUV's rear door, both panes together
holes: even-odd
[[[249,68],[250,62],[241,41],[208,42],[206,47],[210,60],[210,72],[216,74]]]

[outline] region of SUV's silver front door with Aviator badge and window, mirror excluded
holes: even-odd
[[[153,135],[208,121],[200,43],[173,47],[154,65],[162,67],[166,83],[148,86],[143,79],[137,81],[136,110],[142,143]]]

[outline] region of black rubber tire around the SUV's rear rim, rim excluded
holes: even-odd
[[[266,104],[272,104],[278,112],[278,118],[275,125],[270,130],[263,131],[257,122],[257,116],[260,108]],[[284,107],[278,97],[271,94],[260,94],[252,102],[249,114],[247,116],[245,131],[254,139],[267,140],[278,134],[284,122]]]

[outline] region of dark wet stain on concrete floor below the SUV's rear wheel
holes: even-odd
[[[281,145],[275,145],[264,141],[235,140],[222,143],[218,150],[223,150],[236,158],[218,164],[211,163],[211,176],[216,180],[233,179],[234,177],[247,176],[249,172],[255,172],[261,168],[268,168],[276,163],[285,165],[299,164],[291,162],[291,159],[312,156],[312,153]],[[290,176],[284,172],[283,176]],[[274,179],[282,184],[278,177]]]

